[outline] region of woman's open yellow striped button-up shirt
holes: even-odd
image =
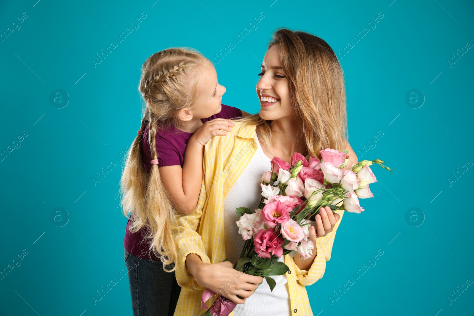
[[[224,261],[226,253],[224,199],[252,159],[257,146],[255,125],[245,122],[236,122],[232,131],[227,135],[214,136],[205,145],[204,179],[198,205],[193,213],[182,215],[179,218],[179,225],[184,229],[175,236],[178,247],[176,279],[182,290],[174,316],[204,314],[205,310],[201,309],[201,296],[205,288],[198,285],[186,269],[186,255],[196,253],[204,263]],[[292,257],[284,256],[284,263],[290,268],[290,271],[287,272],[287,286],[292,316],[313,316],[305,286],[311,285],[323,277],[326,261],[331,258],[337,227],[344,215],[344,210],[338,209],[335,212],[339,214],[340,219],[332,232],[317,238],[317,255],[309,271],[300,270]],[[217,296],[216,294],[213,299]],[[213,299],[207,302],[208,306]],[[233,316],[233,312],[229,316]]]

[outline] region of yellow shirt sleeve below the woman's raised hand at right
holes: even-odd
[[[310,270],[299,270],[298,266],[295,264],[296,277],[301,285],[307,286],[315,283],[323,277],[324,272],[326,271],[326,262],[331,259],[332,245],[334,243],[336,231],[344,215],[343,209],[337,209],[334,212],[339,214],[339,220],[336,222],[332,232],[324,237],[316,238],[316,257],[314,258],[314,262],[311,264]]]

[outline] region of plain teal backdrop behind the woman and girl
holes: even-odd
[[[0,150],[19,145],[0,162],[0,271],[27,251],[0,280],[2,315],[132,315],[128,278],[117,277],[127,221],[117,193],[123,152],[140,126],[142,62],[170,46],[217,62],[232,41],[216,64],[223,103],[256,113],[257,73],[277,27],[311,32],[336,53],[353,43],[339,55],[350,144],[396,169],[374,167],[375,198],[343,217],[324,277],[307,287],[314,315],[474,314],[474,286],[454,296],[474,281],[474,51],[453,55],[474,44],[472,1],[36,1],[0,5],[0,33],[28,15],[0,44]],[[142,12],[139,28],[94,68],[96,54]],[[56,89],[66,91],[64,108],[50,102]],[[412,89],[421,92],[410,103]],[[94,185],[112,161],[118,166]],[[55,208],[64,210],[50,218]],[[117,285],[94,304],[112,279]],[[336,296],[348,279],[354,284]]]

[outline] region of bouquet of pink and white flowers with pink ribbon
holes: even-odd
[[[276,285],[271,276],[289,270],[278,261],[282,255],[295,251],[304,259],[312,256],[310,225],[321,207],[361,213],[364,208],[359,199],[373,198],[369,184],[377,182],[370,166],[375,163],[390,172],[394,170],[380,159],[363,160],[342,170],[349,163],[345,159],[347,151],[328,148],[319,153],[321,160],[310,157],[309,161],[301,153],[293,153],[290,163],[273,157],[272,171],[262,176],[258,208],[255,212],[249,208],[236,210],[239,233],[246,242],[234,269],[264,277],[270,290]],[[207,308],[204,302],[214,294],[206,289],[201,308]],[[221,295],[204,316],[228,316],[236,305]]]

